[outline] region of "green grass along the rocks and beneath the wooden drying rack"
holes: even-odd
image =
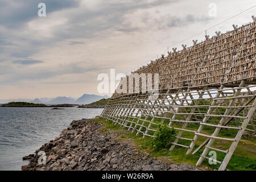
[[[144,118],[143,118],[144,119]],[[200,154],[203,152],[204,148],[201,148],[201,150],[199,152],[197,152],[197,154],[195,155],[186,155],[187,152],[187,148],[183,148],[183,147],[179,147],[179,146],[175,146],[173,151],[169,151],[169,150],[160,150],[160,151],[154,151],[152,150],[151,147],[151,140],[152,138],[150,137],[145,137],[142,138],[142,134],[136,136],[136,132],[134,133],[130,133],[130,132],[123,132],[123,127],[121,127],[120,125],[114,125],[113,122],[111,121],[106,121],[106,119],[103,118],[98,118],[98,119],[93,119],[94,122],[101,122],[104,123],[104,125],[106,127],[104,127],[102,130],[115,130],[117,131],[120,135],[121,138],[126,138],[126,139],[131,139],[133,140],[133,142],[135,144],[137,144],[137,147],[141,150],[144,150],[146,152],[148,152],[149,154],[151,154],[152,156],[156,157],[156,158],[169,158],[171,159],[172,162],[175,163],[188,163],[191,165],[194,165],[197,163],[197,160],[200,158]],[[135,122],[137,122],[138,119],[135,119]],[[160,122],[159,120],[155,120],[156,123]],[[143,123],[143,121],[139,121],[139,123]],[[146,126],[148,126],[148,122],[145,122]],[[153,125],[152,125],[153,126]],[[174,127],[178,127],[179,124],[175,124],[173,125]],[[140,126],[137,127],[137,129],[139,129]],[[157,128],[157,126],[153,126],[151,128]],[[189,129],[191,130],[197,130],[197,127],[195,125],[189,125],[188,126]],[[142,131],[146,130],[144,127],[142,128]],[[209,134],[211,133],[213,130],[212,129],[207,129],[204,130],[205,134]],[[209,133],[208,133],[209,132]],[[193,133],[191,132],[187,132],[184,131],[182,137],[185,138],[193,138]],[[222,133],[220,134],[222,136],[225,137],[233,137],[234,133],[232,133],[232,131],[230,130],[224,130],[222,131]],[[230,136],[229,136],[230,135]],[[196,142],[195,148],[199,147],[199,145],[204,142],[204,140],[207,139],[205,137],[199,137],[199,139]],[[180,144],[184,144],[189,146],[191,141],[188,140],[179,140]],[[215,148],[220,148],[222,150],[227,150],[229,149],[231,142],[229,141],[220,141],[217,140],[213,143],[213,147]],[[194,150],[195,150],[194,148]],[[217,153],[217,160],[222,161],[225,157],[225,154],[222,152],[218,152]],[[255,164],[256,164],[256,151],[255,151],[255,141],[251,141],[250,139],[242,139],[241,142],[238,144],[234,154],[232,155],[232,158],[230,159],[230,162],[227,166],[227,169],[229,170],[236,170],[236,171],[240,171],[240,170],[253,170],[255,171]],[[218,169],[218,167],[220,167],[220,164],[212,164],[210,165],[208,163],[208,160],[204,160],[203,164],[200,166],[201,168],[205,168],[205,169]]]

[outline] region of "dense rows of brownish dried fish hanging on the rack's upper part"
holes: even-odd
[[[221,78],[239,82],[246,73],[246,81],[255,81],[255,26],[256,22],[248,23],[192,47],[169,52],[132,73],[159,73],[159,89],[178,88],[183,82],[192,86],[217,84]],[[127,93],[128,88],[127,82]],[[127,93],[114,93],[112,97]]]

